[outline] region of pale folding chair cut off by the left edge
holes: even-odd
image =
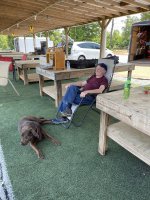
[[[18,91],[16,90],[15,86],[8,78],[10,65],[11,65],[11,62],[0,61],[0,86],[4,87],[4,86],[8,85],[8,83],[10,83],[10,85],[12,86],[12,88],[14,89],[16,94],[18,96],[20,96]]]

